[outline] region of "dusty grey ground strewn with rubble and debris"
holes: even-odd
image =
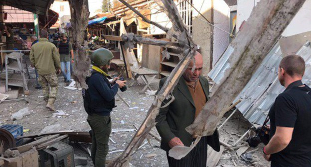
[[[28,87],[30,95],[26,96],[28,103],[25,101],[16,102],[2,102],[0,104],[0,124],[20,124],[24,129],[29,129],[24,135],[37,134],[49,125],[60,124],[60,131],[89,131],[90,127],[86,121],[87,113],[83,108],[83,100],[81,91],[65,89],[63,77],[59,76],[59,89],[58,96],[55,102],[55,108],[62,110],[69,114],[65,117],[53,117],[52,112],[45,108],[46,102],[43,100],[42,90],[34,89],[35,79],[30,79]],[[134,81],[131,81],[134,82]],[[120,94],[130,103],[128,107],[118,96],[116,96],[117,107],[111,113],[112,129],[126,128],[135,129],[134,125],[138,127],[146,117],[147,111],[151,106],[154,96],[147,96],[146,94],[139,94],[144,85],[139,86],[134,83],[128,90]],[[151,84],[153,90],[158,88],[158,80]],[[28,107],[31,112],[29,115],[24,116],[21,120],[12,121],[10,116],[12,113],[19,109]],[[228,116],[229,113],[226,114]],[[250,127],[250,125],[241,118],[239,114],[235,114],[224,127],[219,131],[220,137],[229,138],[229,144],[233,144],[242,136]],[[224,121],[224,119],[222,119]],[[158,135],[155,128],[153,131]],[[124,150],[130,143],[132,136],[135,132],[115,132],[111,134],[111,138],[116,144],[111,141],[110,152]],[[146,143],[145,140],[144,143]],[[245,139],[243,140],[245,143]],[[241,143],[240,143],[241,144]],[[132,156],[131,164],[134,167],[168,167],[166,154],[159,148],[159,142],[155,139],[150,140],[150,144],[145,144],[140,150]],[[234,167],[236,163],[239,167],[267,167],[268,163],[262,157],[262,147],[259,145],[258,151],[252,154],[253,162],[245,162],[236,156],[236,150],[230,151],[225,149],[217,167]],[[252,148],[248,151],[253,150]],[[109,153],[108,160],[113,160],[118,157],[122,152]],[[88,157],[88,165],[85,167],[92,167],[89,155],[75,148],[75,154],[79,156]],[[146,155],[156,154],[150,158]],[[148,157],[148,156],[147,156]],[[233,162],[234,161],[234,162]]]

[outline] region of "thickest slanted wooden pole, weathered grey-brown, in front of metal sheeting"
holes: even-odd
[[[229,47],[234,49],[228,68],[194,123],[190,134],[212,135],[235,97],[251,79],[269,50],[305,0],[261,0]]]

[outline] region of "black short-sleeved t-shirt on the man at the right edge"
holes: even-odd
[[[276,127],[294,128],[290,144],[272,154],[272,167],[311,167],[311,88],[301,81],[279,94],[269,111],[270,138]]]

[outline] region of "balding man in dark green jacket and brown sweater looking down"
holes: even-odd
[[[196,52],[195,69],[192,71],[194,61],[179,79],[173,90],[174,101],[160,108],[155,118],[156,129],[161,136],[161,149],[166,151],[169,167],[206,167],[207,145],[215,151],[220,150],[218,132],[215,130],[212,136],[204,136],[197,145],[184,158],[176,160],[168,156],[168,151],[175,146],[191,145],[196,138],[189,134],[185,128],[191,125],[208,100],[209,88],[206,78],[201,76],[203,68],[203,57]],[[160,80],[159,90],[166,78]],[[170,99],[165,99],[162,106]]]

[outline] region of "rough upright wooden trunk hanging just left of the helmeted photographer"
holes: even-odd
[[[87,28],[89,20],[89,6],[88,0],[68,0],[71,13],[71,29],[73,45],[76,46],[75,52],[76,61],[74,63],[74,80],[80,83],[82,88],[87,88],[85,78],[90,76],[91,61],[85,48],[82,47],[84,43],[84,30]]]

